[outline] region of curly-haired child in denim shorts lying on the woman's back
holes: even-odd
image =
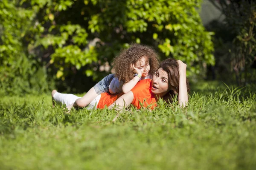
[[[159,66],[158,57],[154,49],[140,44],[133,44],[127,50],[121,51],[114,58],[114,71],[94,85],[83,97],[77,97],[74,103],[62,101],[70,110],[71,107],[86,107],[97,96],[104,92],[111,94],[128,93],[141,79],[151,79]],[[58,97],[56,90],[52,91],[52,98]],[[60,100],[58,100],[60,101]],[[70,99],[70,101],[74,101]]]

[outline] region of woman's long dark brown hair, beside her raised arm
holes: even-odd
[[[165,59],[160,63],[159,68],[162,68],[163,71],[166,71],[168,74],[168,89],[170,89],[169,93],[167,93],[165,96],[163,96],[163,100],[166,102],[173,102],[172,99],[176,94],[179,93],[179,80],[180,80],[180,75],[179,75],[179,64],[176,59],[174,58],[169,58]],[[186,79],[186,84],[187,84],[187,91],[189,93],[190,88],[189,88],[189,82],[188,79]]]

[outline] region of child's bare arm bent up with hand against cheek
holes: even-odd
[[[128,93],[129,91],[131,91],[131,89],[134,88],[134,86],[140,81],[141,79],[141,76],[142,76],[142,73],[141,71],[134,67],[134,65],[131,65],[131,68],[133,69],[134,73],[138,74],[138,76],[135,76],[133,79],[131,79],[129,82],[125,83],[123,86],[122,86],[122,92],[124,94]]]

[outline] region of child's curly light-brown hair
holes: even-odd
[[[122,50],[119,56],[113,60],[113,70],[119,81],[129,82],[134,77],[131,64],[135,64],[143,57],[146,57],[146,63],[149,63],[150,70],[148,75],[153,76],[159,67],[159,58],[153,48],[147,45],[132,44],[130,48]]]

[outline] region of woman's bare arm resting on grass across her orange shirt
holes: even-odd
[[[110,105],[108,108],[116,108],[117,111],[122,110],[123,108],[126,108],[128,105],[131,104],[131,102],[134,99],[134,94],[132,91],[129,91],[127,94],[123,94],[120,96],[112,105]]]

